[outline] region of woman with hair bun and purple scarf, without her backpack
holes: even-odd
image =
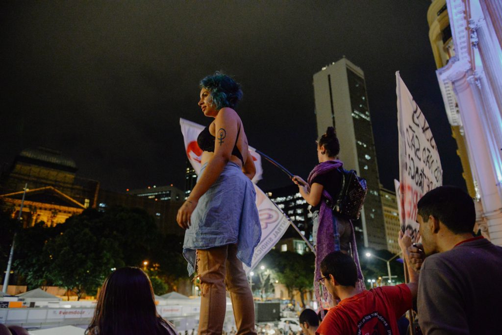
[[[335,129],[328,127],[326,133],[316,143],[319,164],[310,172],[307,182],[298,176],[293,177],[293,182],[298,185],[301,196],[312,206],[310,209],[314,223],[312,236],[316,249],[314,286],[316,296],[319,297],[319,280],[322,278],[320,265],[330,252],[341,251],[352,254],[361,279],[359,285],[362,282],[362,272],[352,223],[337,216],[330,206],[340,193],[343,181],[341,172],[343,162],[338,159],[340,143]]]

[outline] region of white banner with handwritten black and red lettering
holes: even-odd
[[[432,131],[410,91],[396,72],[399,129],[399,213],[401,228],[415,242],[417,203],[443,184],[443,169]]]

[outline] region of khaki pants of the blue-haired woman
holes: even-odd
[[[230,292],[237,334],[256,334],[255,304],[237,245],[197,250],[201,303],[199,334],[221,334],[226,311],[226,289]]]

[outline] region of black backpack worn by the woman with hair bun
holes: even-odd
[[[326,201],[326,204],[336,215],[347,220],[357,220],[361,215],[362,205],[368,192],[366,180],[357,177],[354,170],[348,171],[341,168],[338,171],[342,175],[340,193],[333,199],[333,203]]]

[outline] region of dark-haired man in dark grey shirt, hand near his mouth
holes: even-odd
[[[420,269],[422,332],[502,333],[502,247],[473,237],[476,211],[470,196],[441,186],[425,194],[417,207],[423,251],[408,250],[412,265]]]

